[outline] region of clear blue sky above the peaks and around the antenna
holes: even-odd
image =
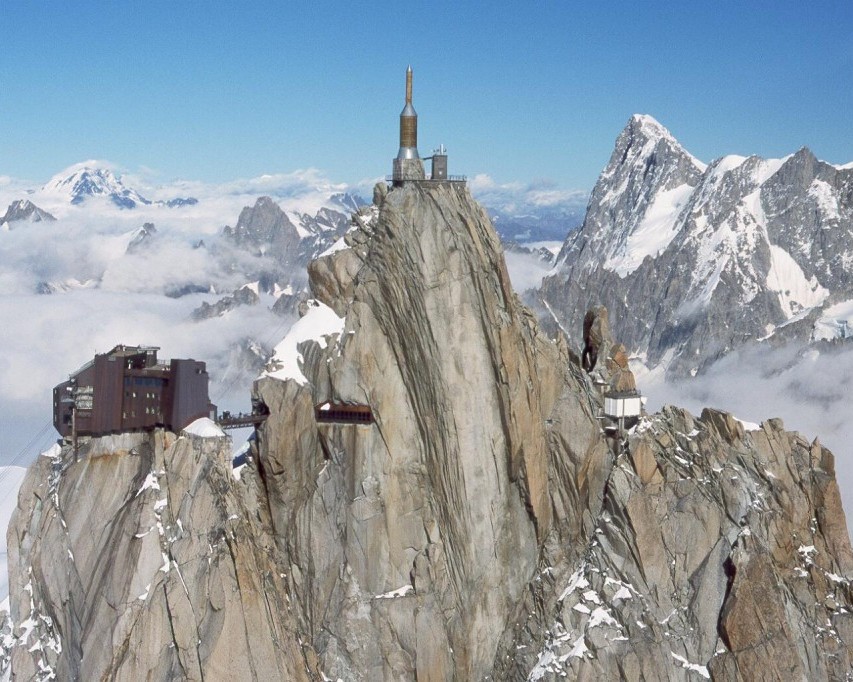
[[[390,172],[404,71],[450,172],[589,189],[632,113],[703,161],[853,160],[850,2],[0,0],[0,175]]]

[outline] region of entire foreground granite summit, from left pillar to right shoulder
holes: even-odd
[[[832,454],[712,410],[616,428],[605,311],[584,369],[464,185],[374,194],[309,266],[238,474],[198,426],[31,468],[15,678],[850,679]]]

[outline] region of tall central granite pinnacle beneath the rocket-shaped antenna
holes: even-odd
[[[516,301],[466,190],[395,189],[348,241],[310,269],[345,317],[338,342],[304,351],[307,382],[256,388],[274,521],[329,676],[477,679],[551,525],[545,413],[567,356]],[[375,423],[318,429],[324,402]]]

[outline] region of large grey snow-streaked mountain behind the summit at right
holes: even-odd
[[[806,148],[706,166],[638,115],[538,301],[575,340],[606,305],[644,363],[684,376],[750,342],[847,336],[851,266],[853,166]]]

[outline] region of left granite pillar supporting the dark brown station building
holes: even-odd
[[[230,439],[159,431],[53,454],[8,532],[13,679],[316,679]]]

